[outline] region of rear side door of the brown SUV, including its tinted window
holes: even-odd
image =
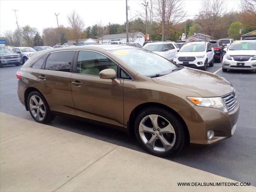
[[[37,73],[37,88],[46,98],[50,109],[75,114],[70,76],[75,50],[52,52]]]

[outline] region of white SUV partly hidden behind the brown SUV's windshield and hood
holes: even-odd
[[[152,51],[170,61],[173,61],[174,56],[180,50],[173,41],[147,43],[142,48]]]

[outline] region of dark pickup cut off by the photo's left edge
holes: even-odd
[[[20,65],[20,54],[11,52],[10,50],[1,47],[0,48],[0,67],[5,65],[15,64]]]

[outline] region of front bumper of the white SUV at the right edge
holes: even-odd
[[[222,61],[222,67],[224,69],[232,69],[232,70],[256,70],[256,60],[248,60],[244,61],[243,66],[239,66],[237,63],[238,61],[228,60],[225,57],[223,58]]]

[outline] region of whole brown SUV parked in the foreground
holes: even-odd
[[[35,52],[16,74],[18,96],[36,122],[83,118],[135,134],[166,156],[187,143],[232,136],[239,104],[232,84],[132,46],[92,45]]]

